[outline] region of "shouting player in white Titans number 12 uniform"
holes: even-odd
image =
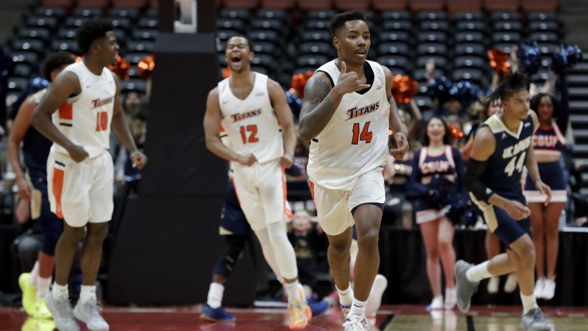
[[[290,329],[306,327],[312,314],[299,288],[296,256],[286,236],[284,168],[292,166],[296,144],[292,111],[282,87],[252,72],[253,52],[245,37],[226,44],[231,76],[208,94],[204,130],[206,148],[230,162],[240,206],[262,246],[263,256],[285,282]],[[229,145],[220,141],[220,127]],[[282,132],[280,132],[280,125]],[[222,292],[222,286],[216,286]],[[211,285],[212,289],[212,285]]]

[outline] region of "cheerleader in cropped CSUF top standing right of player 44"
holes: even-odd
[[[539,93],[532,98],[530,104],[539,118],[539,128],[533,134],[537,166],[539,166],[542,180],[552,189],[552,199],[550,202],[546,201],[547,196],[536,190],[530,176],[527,176],[524,187],[524,194],[531,210],[533,243],[536,251],[535,296],[546,300],[553,299],[554,296],[559,249],[559,219],[567,201],[567,182],[564,179],[562,163],[560,163],[562,151],[566,147],[564,133],[569,119],[567,80],[564,72],[560,72],[559,87],[561,102],[553,94]],[[547,267],[544,263],[545,257],[547,257]]]

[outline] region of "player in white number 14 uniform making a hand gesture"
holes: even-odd
[[[330,23],[338,58],[320,67],[305,86],[300,137],[310,143],[308,174],[320,226],[329,238],[329,265],[339,290],[345,330],[369,330],[365,306],[379,267],[377,248],[385,201],[382,176],[388,130],[402,160],[408,143],[390,92],[392,73],[366,61],[370,32],[362,12]],[[358,232],[355,294],[349,284],[352,226]]]

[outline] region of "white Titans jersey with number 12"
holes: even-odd
[[[259,163],[284,154],[282,130],[269,100],[268,76],[254,72],[253,90],[240,100],[230,90],[230,77],[218,84],[220,124],[228,146],[241,155],[253,154]]]

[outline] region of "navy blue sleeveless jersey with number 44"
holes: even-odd
[[[500,196],[524,202],[520,178],[527,150],[532,143],[533,118],[529,113],[516,133],[502,123],[498,114],[488,118],[484,125],[494,134],[496,150],[488,158],[486,171],[480,180]]]

